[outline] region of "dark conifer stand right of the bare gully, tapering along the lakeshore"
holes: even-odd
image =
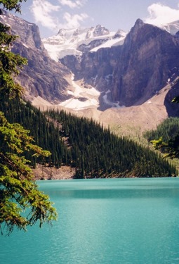
[[[49,111],[70,146],[76,177],[168,177],[175,168],[150,149],[115,136],[93,120]]]

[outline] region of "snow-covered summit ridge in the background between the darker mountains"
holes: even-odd
[[[96,27],[72,30],[60,29],[58,34],[42,39],[49,56],[55,61],[67,55],[81,55],[83,51],[97,51],[100,48],[123,44],[126,33],[122,30],[110,32]]]

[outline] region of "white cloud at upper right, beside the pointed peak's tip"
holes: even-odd
[[[170,8],[160,3],[152,4],[147,10],[149,16],[144,19],[145,23],[160,26],[179,20],[179,4],[178,9]]]

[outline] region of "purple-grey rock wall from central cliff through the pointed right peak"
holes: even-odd
[[[166,30],[137,20],[124,44],[60,61],[76,79],[107,93],[120,106],[139,105],[166,85],[173,68],[179,69],[179,39]],[[104,96],[104,95],[102,95]]]

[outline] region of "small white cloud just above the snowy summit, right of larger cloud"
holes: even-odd
[[[74,28],[79,27],[80,23],[83,22],[86,18],[88,18],[88,15],[86,13],[71,15],[70,13],[66,12],[63,18],[65,20],[65,24],[63,25],[63,27]]]

